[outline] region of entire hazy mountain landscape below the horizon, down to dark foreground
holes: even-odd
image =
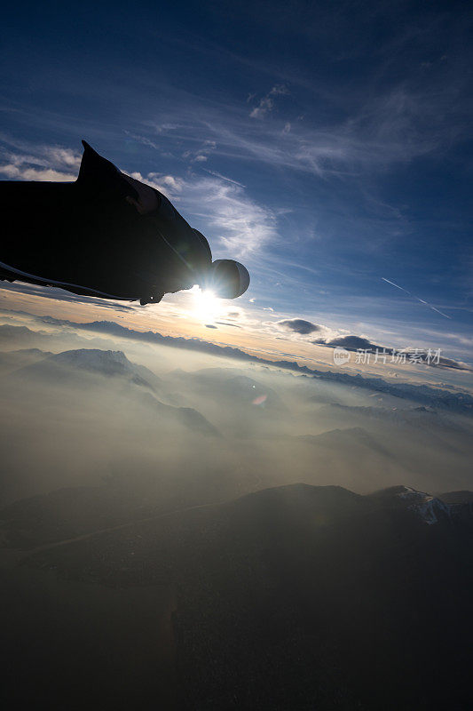
[[[92,689],[103,708],[464,702],[466,393],[434,408],[431,387],[70,328],[0,340],[4,639],[25,702],[77,675],[76,708]]]

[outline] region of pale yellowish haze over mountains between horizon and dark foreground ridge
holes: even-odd
[[[0,326],[4,502],[112,475],[174,508],[296,481],[468,488],[465,391],[112,322],[20,323]]]

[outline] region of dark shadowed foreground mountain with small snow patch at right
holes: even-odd
[[[24,564],[175,589],[183,709],[467,709],[472,499],[294,484],[95,531]]]

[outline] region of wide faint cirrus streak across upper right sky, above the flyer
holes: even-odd
[[[440,92],[435,85],[406,80],[370,93],[343,118],[323,121],[308,112],[301,121],[299,109],[289,106],[271,122],[254,119],[272,113],[274,98],[289,92],[285,84],[274,85],[249,115],[244,104],[202,104],[196,111],[199,99],[189,96],[192,113],[180,103],[173,110],[170,101],[166,119],[154,125],[150,138],[138,140],[158,147],[167,140],[168,148],[169,141],[184,142],[195,146],[188,148],[189,157],[199,155],[206,140],[213,141],[214,156],[359,180],[366,170],[386,171],[466,138],[469,122],[457,107],[463,91],[459,81]]]

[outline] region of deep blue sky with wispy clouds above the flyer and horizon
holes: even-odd
[[[85,138],[248,265],[249,314],[470,361],[465,8],[7,8],[0,178],[72,180]]]

